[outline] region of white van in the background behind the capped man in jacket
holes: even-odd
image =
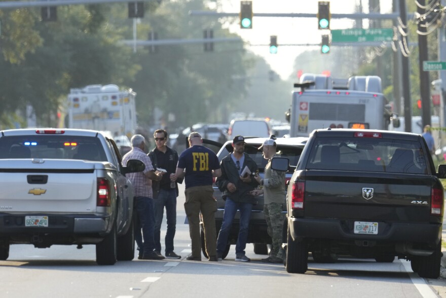
[[[235,136],[269,138],[271,134],[271,127],[265,119],[233,119],[229,124],[228,140]]]

